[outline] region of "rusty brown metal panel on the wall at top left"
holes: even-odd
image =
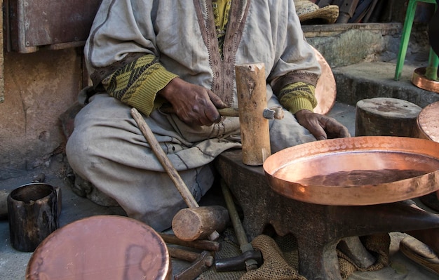
[[[81,46],[101,0],[7,0],[13,51]]]

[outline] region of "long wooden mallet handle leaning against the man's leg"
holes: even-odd
[[[154,135],[154,133],[152,133],[151,128],[149,128],[147,123],[144,121],[142,115],[137,111],[137,109],[132,108],[131,116],[133,116],[133,119],[137,123],[137,126],[139,126],[140,131],[142,131],[144,137],[149,142],[149,146],[151,147],[152,152],[156,154],[158,161],[160,161],[166,173],[168,173],[170,179],[174,182],[174,185],[175,187],[177,187],[178,192],[180,192],[180,194],[182,195],[184,202],[186,202],[188,207],[198,207],[198,202],[196,202],[187,185],[180,177],[180,174],[178,174],[177,169],[175,169],[175,167],[173,166],[173,163],[170,162],[168,156],[166,156],[165,152],[163,152],[163,149],[156,139],[156,136]],[[219,234],[217,231],[215,231],[210,234],[209,239],[216,240],[218,237]]]

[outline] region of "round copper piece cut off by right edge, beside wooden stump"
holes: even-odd
[[[419,138],[439,142],[439,101],[421,110],[417,117]]]

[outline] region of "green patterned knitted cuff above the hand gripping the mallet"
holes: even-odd
[[[149,116],[165,100],[156,94],[177,75],[168,72],[154,55],[144,55],[117,69],[102,81],[109,95]]]

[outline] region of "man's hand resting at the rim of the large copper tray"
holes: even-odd
[[[329,116],[309,110],[300,110],[295,116],[299,124],[308,129],[317,140],[351,137],[348,128]]]

